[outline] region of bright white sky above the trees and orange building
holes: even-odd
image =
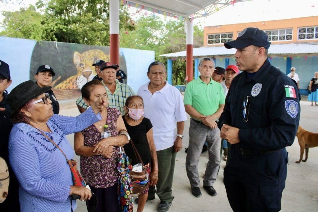
[[[29,4],[35,5],[38,0],[24,0],[21,5],[16,0],[8,0],[8,4],[0,3],[1,11],[15,11],[19,8],[27,7]],[[130,8],[132,15],[135,9]],[[150,12],[148,11],[148,15]],[[318,15],[318,0],[251,0],[242,3],[229,5],[216,13],[194,20],[195,25],[213,26],[236,24],[256,21],[278,20],[286,18],[298,18]],[[158,15],[163,18],[163,15]],[[137,17],[137,16],[135,16]],[[134,18],[134,17],[133,17]],[[0,22],[3,17],[0,15]]]

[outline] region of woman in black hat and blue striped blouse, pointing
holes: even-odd
[[[50,138],[73,158],[73,149],[66,135],[82,131],[101,119],[99,111],[106,108],[102,97],[77,117],[53,114],[47,91],[50,86],[39,87],[33,81],[19,84],[8,95],[13,128],[9,138],[9,160],[20,182],[21,211],[71,211],[76,201],[90,199],[91,191],[73,186],[72,174],[66,159]]]

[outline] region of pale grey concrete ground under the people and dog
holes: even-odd
[[[79,112],[76,108],[60,111],[60,115],[76,116],[78,114]],[[307,131],[318,133],[317,118],[318,106],[310,106],[310,102],[301,101],[300,125]],[[214,188],[218,192],[218,195],[212,197],[203,189],[203,174],[208,162],[207,152],[204,152],[201,155],[198,166],[201,181],[200,188],[203,195],[200,198],[196,198],[191,194],[190,184],[185,170],[186,153],[184,152],[184,148],[188,147],[189,143],[189,123],[190,121],[188,119],[188,121],[185,122],[183,133],[183,149],[177,154],[176,157],[173,180],[173,195],[175,196],[175,199],[173,200],[169,211],[232,211],[228,203],[225,187],[223,184],[223,168],[225,167],[224,156],[222,156],[221,169],[214,184]],[[71,145],[74,145],[74,136],[68,135],[67,138],[69,139]],[[300,164],[295,163],[300,156],[300,148],[297,138],[295,138],[294,144],[292,146],[287,147],[287,151],[289,152],[289,166],[287,168],[286,188],[283,192],[281,211],[317,211],[318,148],[311,148],[309,150],[309,159],[307,162],[301,162]],[[75,159],[79,161],[78,156],[76,156]],[[134,196],[134,198],[135,197],[136,196]],[[156,211],[159,202],[160,200],[158,197],[156,197],[156,199],[153,201],[148,201],[144,211]],[[77,204],[77,212],[87,211],[84,202],[77,201]],[[136,211],[137,205],[134,205],[134,207]]]

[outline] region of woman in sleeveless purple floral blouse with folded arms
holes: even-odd
[[[107,97],[107,92],[99,80],[87,82],[81,89],[82,96],[88,105],[101,95]],[[108,100],[107,100],[108,101]],[[86,184],[98,199],[96,212],[120,211],[117,180],[117,158],[119,146],[127,144],[128,138],[125,135],[118,135],[121,130],[126,130],[121,113],[116,108],[109,108],[100,111],[102,120],[90,125],[85,130],[75,133],[74,149],[80,155],[80,171]],[[108,125],[111,137],[101,139],[101,132],[104,125]],[[98,144],[98,145],[97,145]],[[87,202],[90,208],[91,202]]]

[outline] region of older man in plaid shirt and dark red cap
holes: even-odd
[[[110,62],[101,64],[100,71],[103,78],[102,83],[107,91],[109,101],[108,107],[116,108],[122,115],[125,115],[124,106],[126,98],[135,95],[135,93],[128,85],[122,84],[116,80],[116,69],[117,67]],[[82,96],[76,100],[76,105],[80,113],[83,113],[88,107]]]

